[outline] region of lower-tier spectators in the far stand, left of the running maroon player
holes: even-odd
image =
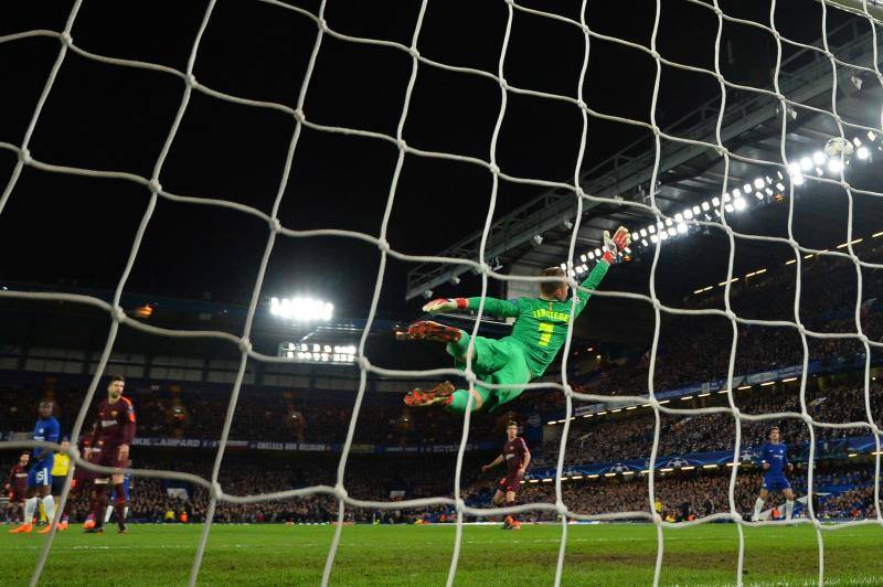
[[[180,452],[180,451],[179,451]],[[183,450],[183,455],[172,456],[169,450],[139,450],[135,458],[137,469],[180,471],[211,479],[214,452]],[[219,482],[228,495],[256,495],[291,489],[336,484],[339,455],[299,456],[296,458],[272,458],[256,451],[233,455],[224,459]],[[469,456],[464,460],[462,487],[467,488],[480,476],[480,462]],[[415,456],[360,456],[348,459],[344,487],[351,498],[363,501],[401,501],[430,497],[453,498],[454,455]],[[483,462],[483,461],[481,461]],[[2,461],[6,473],[12,461]],[[171,490],[171,491],[170,491]],[[181,490],[184,490],[183,492]],[[71,516],[83,521],[88,514],[89,500],[85,492],[73,492],[74,503]],[[201,522],[205,520],[210,494],[202,485],[180,480],[136,476],[132,479],[130,517],[143,522]],[[328,493],[308,497],[262,501],[248,504],[221,502],[215,509],[215,521],[222,523],[294,522],[323,523],[337,520],[336,498]],[[444,513],[445,508],[427,510]],[[422,510],[421,515],[427,511]],[[3,515],[12,515],[6,510]],[[345,510],[350,522],[371,522],[374,520],[408,521],[416,512],[372,509]]]

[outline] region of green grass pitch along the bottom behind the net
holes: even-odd
[[[0,585],[26,585],[45,540],[0,534]],[[201,525],[132,525],[118,535],[60,534],[41,585],[185,585]],[[454,527],[345,526],[332,585],[444,585]],[[734,585],[737,530],[708,524],[666,530],[663,585]],[[331,526],[216,525],[201,585],[318,585]],[[883,585],[883,527],[825,532],[826,585]],[[560,525],[465,526],[457,585],[551,585]],[[808,526],[745,530],[745,585],[815,585],[816,534]],[[649,585],[656,529],[648,524],[570,525],[564,585]]]

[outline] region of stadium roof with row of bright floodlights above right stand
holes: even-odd
[[[787,108],[787,134],[785,151],[789,162],[799,162],[820,151],[826,141],[839,136],[837,120],[830,114],[832,84],[837,83],[837,113],[844,124],[844,136],[859,139],[862,146],[873,152],[866,160],[859,161],[853,157],[847,179],[853,186],[881,191],[880,173],[874,173],[883,152],[880,152],[882,140],[868,129],[880,129],[883,89],[879,73],[874,75],[873,42],[874,38],[862,22],[850,21],[840,28],[829,31],[828,43],[831,53],[839,60],[837,78],[831,73],[831,61],[826,56],[821,40],[813,49],[794,50],[784,43],[784,55],[779,84],[781,94],[790,102]],[[877,40],[877,45],[880,41]],[[880,52],[877,46],[877,55]],[[848,67],[844,64],[854,64]],[[877,68],[879,72],[879,68]],[[772,88],[770,88],[772,89]],[[764,179],[763,191],[755,198],[746,196],[747,210],[735,216],[727,216],[728,222],[737,231],[760,235],[786,236],[787,226],[788,172],[781,163],[781,106],[779,100],[768,90],[746,90],[740,87],[727,87],[726,108],[723,116],[721,137],[723,145],[732,153],[728,167],[727,190],[752,185],[758,178]],[[666,216],[674,217],[685,209],[711,201],[723,191],[725,179],[725,161],[713,148],[706,145],[687,141],[715,141],[715,126],[720,111],[720,96],[709,100],[694,111],[677,120],[664,129],[667,135],[679,137],[684,141],[662,140],[659,162],[658,189],[656,204]],[[865,128],[862,128],[865,127]],[[876,134],[879,135],[879,132]],[[857,143],[858,146],[859,143]],[[591,138],[589,138],[591,146]],[[653,173],[655,147],[652,134],[646,136],[595,166],[581,175],[581,186],[591,196],[621,199],[627,202],[650,204],[649,183]],[[874,161],[874,159],[876,161]],[[752,160],[768,161],[759,164]],[[813,168],[816,166],[813,164]],[[779,177],[776,172],[783,173]],[[815,175],[815,171],[809,171]],[[822,177],[831,178],[832,173],[822,170]],[[768,178],[768,179],[767,179]],[[773,180],[773,181],[769,181]],[[777,188],[776,184],[779,184]],[[784,186],[784,189],[781,189]],[[799,231],[807,237],[815,238],[808,246],[827,247],[830,243],[843,239],[844,224],[834,222],[830,201],[816,201],[815,195],[826,193],[830,196],[837,186],[819,184],[809,179],[802,185],[795,185],[797,198],[810,192],[813,198],[804,198],[799,212],[795,214],[795,236],[801,239]],[[773,193],[768,193],[773,192]],[[839,190],[842,195],[843,191]],[[883,217],[877,209],[873,211],[872,199],[854,198],[855,214],[853,218],[854,234],[862,231],[880,230],[873,225],[873,217]],[[871,206],[871,207],[865,207]],[[838,220],[845,221],[845,199],[838,201],[836,211]],[[755,212],[757,209],[757,212]],[[760,210],[764,209],[764,210]],[[713,210],[711,211],[713,212]],[[518,273],[532,273],[542,267],[560,265],[568,256],[572,223],[576,214],[576,198],[572,189],[560,188],[538,195],[533,201],[497,220],[489,232],[485,258],[496,267],[520,266]],[[714,221],[712,214],[703,213],[703,220]],[[603,231],[613,232],[618,225],[626,225],[632,231],[652,224],[656,218],[645,211],[624,205],[583,201],[583,217],[579,221],[575,248],[575,267],[582,265],[578,257],[583,253],[594,250],[602,243]],[[798,226],[799,224],[799,226]],[[880,223],[877,223],[880,224]],[[802,227],[802,228],[801,228]],[[690,233],[709,234],[708,228],[690,227]],[[721,231],[716,243],[705,246],[714,247],[719,255],[728,249],[727,239]],[[478,260],[481,232],[476,232],[437,255],[443,257],[468,258]],[[534,238],[539,236],[541,238]],[[688,235],[689,236],[689,235]],[[640,239],[639,239],[640,243]],[[650,253],[652,245],[637,246],[637,256]],[[783,248],[783,253],[786,253]],[[768,260],[767,252],[748,253],[742,260],[746,266]],[[455,276],[468,271],[467,266],[424,264],[408,275],[407,298],[412,299],[437,289]],[[702,271],[698,273],[700,281],[708,279]],[[578,276],[577,276],[578,278]],[[689,287],[689,285],[688,285]]]

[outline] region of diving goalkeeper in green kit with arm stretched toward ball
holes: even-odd
[[[581,287],[596,289],[619,253],[630,243],[631,235],[623,226],[617,228],[613,238],[605,231],[604,255]],[[564,278],[566,274],[560,267],[551,267],[543,269],[542,275]],[[564,344],[567,323],[586,307],[589,294],[576,292],[572,317],[572,302],[567,299],[567,294],[566,281],[542,281],[539,298],[485,298],[485,313],[514,318],[515,323],[512,333],[503,339],[474,339],[472,371],[480,382],[507,387],[490,389],[478,384],[466,391],[456,389],[454,384],[446,381],[429,391],[413,389],[405,396],[405,404],[421,407],[442,405],[448,412],[462,414],[470,394],[474,412],[493,409],[521,395],[524,385],[545,373]],[[440,298],[424,306],[423,310],[429,313],[478,310],[481,298]],[[466,369],[466,352],[470,340],[467,332],[438,322],[421,321],[408,327],[406,338],[447,343],[447,351],[454,356],[455,366],[459,370]]]

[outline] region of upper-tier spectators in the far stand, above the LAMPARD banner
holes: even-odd
[[[227,409],[228,396],[217,392],[188,391],[141,392],[130,389],[126,395],[135,404],[139,437],[217,439]],[[326,403],[290,399],[274,392],[255,391],[241,394],[234,414],[230,438],[280,442],[343,442],[352,416],[354,394]],[[401,397],[383,394],[374,405],[363,405],[359,413],[354,442],[406,446],[459,442],[460,421],[442,410],[415,410],[401,403]],[[22,396],[52,397],[62,430],[73,428],[76,413],[85,396],[84,389],[0,388],[0,433],[25,431],[36,419],[35,399],[23,404]],[[97,402],[96,402],[97,404]],[[514,409],[482,416],[485,421],[471,428],[471,441],[499,440],[506,414],[519,421],[528,419],[534,407],[520,402]],[[92,424],[89,413],[86,426]],[[477,418],[478,420],[479,418]]]

